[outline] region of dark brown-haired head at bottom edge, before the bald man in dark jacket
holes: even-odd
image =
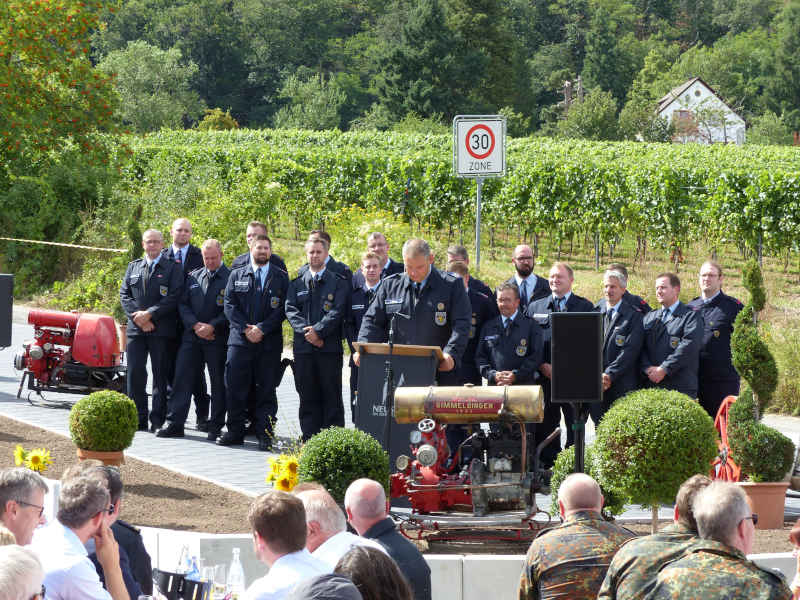
[[[414,592],[397,564],[385,553],[356,546],[345,554],[334,573],[349,577],[364,600],[413,600]]]

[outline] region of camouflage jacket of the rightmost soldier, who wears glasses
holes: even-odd
[[[663,567],[647,600],[789,600],[778,575],[731,546],[698,540],[682,558]]]

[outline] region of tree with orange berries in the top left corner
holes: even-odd
[[[83,151],[104,154],[94,134],[116,129],[117,98],[111,77],[88,56],[101,7],[79,0],[0,3],[0,163],[11,171],[70,138]]]

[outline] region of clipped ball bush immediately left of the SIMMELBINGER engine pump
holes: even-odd
[[[329,427],[312,436],[300,451],[297,472],[299,482],[322,484],[340,504],[347,486],[362,477],[389,492],[389,454],[359,429]]]

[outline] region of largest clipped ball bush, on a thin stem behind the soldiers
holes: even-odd
[[[615,402],[597,428],[597,480],[626,502],[671,504],[684,481],[709,472],[716,440],[711,417],[685,394],[638,390]]]

